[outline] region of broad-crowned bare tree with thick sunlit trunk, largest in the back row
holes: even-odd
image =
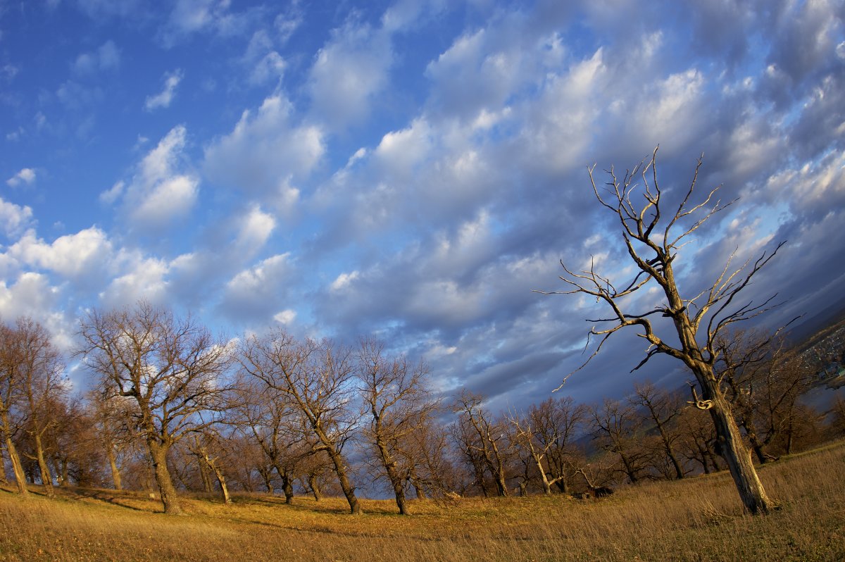
[[[103,388],[137,403],[136,424],[161,503],[165,513],[181,513],[167,451],[215,423],[215,412],[223,411],[229,346],[194,319],[177,319],[145,302],[106,314],[92,310],[80,321],[79,336],[84,342],[79,354]]]

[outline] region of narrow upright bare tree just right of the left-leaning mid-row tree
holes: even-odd
[[[408,514],[405,488],[417,459],[413,445],[420,444],[413,435],[433,423],[439,410],[439,400],[426,385],[427,374],[424,363],[412,365],[406,357],[386,357],[382,342],[361,341],[357,379],[362,415],[368,417],[363,436],[379,458],[401,515]]]

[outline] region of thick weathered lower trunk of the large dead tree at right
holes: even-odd
[[[766,495],[760,477],[757,476],[750,452],[743,443],[739,426],[731,414],[728,400],[722,395],[716,378],[712,374],[700,376],[699,383],[705,399],[712,401],[709,411],[713,424],[716,426],[717,443],[722,450],[722,458],[728,464],[728,470],[731,472],[740,499],[752,514],[768,513],[773,504]]]

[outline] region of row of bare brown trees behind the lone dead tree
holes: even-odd
[[[282,330],[226,340],[148,303],[94,310],[79,336],[85,400],[71,396],[41,325],[0,326],[4,467],[21,494],[27,481],[47,495],[54,484],[143,488],[179,513],[180,488],[226,502],[232,487],[287,503],[298,490],[343,494],[354,514],[364,481],[406,514],[408,494],[569,494],[725,467],[694,392],[636,385],[622,401],[564,396],[496,413],[467,390],[444,400],[424,363],[379,341]],[[757,461],[820,439],[819,416],[798,400],[813,369],[771,336],[717,345],[720,384]]]

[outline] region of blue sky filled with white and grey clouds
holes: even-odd
[[[699,189],[739,198],[681,250],[682,293],[786,240],[744,297],[786,301],[771,325],[817,314],[845,286],[843,19],[827,0],[0,0],[0,318],[68,352],[80,315],[139,299],[227,337],[374,336],[447,394],[522,407],[602,316],[535,292],[564,288],[560,260],[630,274],[587,166],[605,181],[657,145],[668,201],[701,155]],[[683,384],[666,358],[629,374],[645,348],[614,336],[558,392]]]

